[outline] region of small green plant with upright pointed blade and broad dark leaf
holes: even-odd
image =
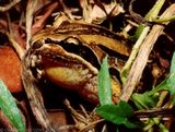
[[[128,103],[120,100],[118,105],[112,105],[110,83],[107,57],[105,57],[98,73],[98,96],[101,106],[96,109],[96,112],[107,121],[115,123],[117,128],[119,125],[125,125],[128,129],[138,128],[138,121],[130,120],[131,117],[133,117],[133,109]]]

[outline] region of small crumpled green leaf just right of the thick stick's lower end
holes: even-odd
[[[158,96],[150,96],[148,92],[143,94],[132,94],[131,96],[135,105],[138,107],[138,109],[148,109],[153,108],[156,106],[158,103]]]

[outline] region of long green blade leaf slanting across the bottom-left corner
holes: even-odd
[[[24,122],[20,115],[20,110],[14,101],[13,96],[0,80],[0,108],[4,115],[11,120],[18,132],[25,132]]]

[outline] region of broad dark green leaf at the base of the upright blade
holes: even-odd
[[[124,124],[129,129],[138,128],[135,121],[130,121],[130,118],[133,116],[133,109],[122,100],[118,105],[101,106],[96,109],[96,112],[117,125]]]

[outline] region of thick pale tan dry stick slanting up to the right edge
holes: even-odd
[[[161,15],[161,19],[170,17],[173,14],[175,14],[175,4],[172,4],[168,9],[166,9],[166,11]],[[167,25],[168,22],[164,24]],[[145,37],[144,41],[142,43],[140,50],[138,52],[138,56],[127,77],[127,82],[124,85],[122,93],[120,96],[121,100],[125,100],[125,101],[129,100],[137,83],[140,81],[140,77],[147,64],[149,55],[158,37],[162,34],[163,29],[164,29],[163,25],[154,25],[150,34]]]

